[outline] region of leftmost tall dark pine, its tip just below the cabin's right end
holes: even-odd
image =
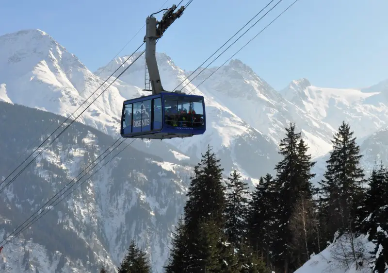
[[[212,152],[202,155],[201,162],[194,168],[194,176],[187,192],[188,200],[184,206],[184,236],[186,250],[179,252],[174,246],[171,252],[183,255],[179,263],[170,263],[170,269],[177,272],[207,270],[225,267],[226,260],[232,260],[224,247],[224,207],[225,195],[220,160]],[[178,255],[178,254],[177,254]],[[174,259],[174,257],[172,257]],[[169,269],[167,269],[169,270]]]

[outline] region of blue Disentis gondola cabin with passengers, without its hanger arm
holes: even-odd
[[[205,130],[203,96],[169,92],[123,103],[122,137],[168,139],[202,135]]]

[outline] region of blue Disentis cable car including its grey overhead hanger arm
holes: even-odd
[[[162,87],[156,62],[156,41],[182,15],[184,6],[174,13],[175,9],[176,5],[168,9],[160,22],[152,15],[146,19],[144,90],[152,91],[152,94],[123,102],[120,126],[122,137],[162,140],[202,135],[206,131],[204,97],[180,91],[168,92]],[[152,86],[151,90],[147,88],[147,80],[148,86]]]

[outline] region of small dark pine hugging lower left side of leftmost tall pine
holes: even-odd
[[[188,264],[186,236],[187,234],[183,219],[179,218],[175,233],[173,233],[169,263],[165,267],[166,273],[186,272],[185,265]]]

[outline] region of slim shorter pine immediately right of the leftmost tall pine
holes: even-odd
[[[237,248],[245,237],[249,191],[241,175],[235,170],[226,181],[225,233],[230,242]]]

